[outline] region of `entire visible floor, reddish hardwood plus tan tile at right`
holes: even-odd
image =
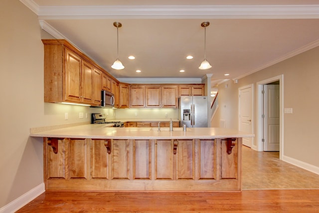
[[[319,213],[319,175],[276,152],[243,147],[242,159],[241,193],[45,192],[17,213]]]

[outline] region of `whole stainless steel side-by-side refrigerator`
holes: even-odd
[[[207,127],[207,96],[181,96],[178,104],[180,127]]]

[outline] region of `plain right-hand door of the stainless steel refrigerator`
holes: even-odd
[[[193,127],[208,127],[207,104],[207,96],[193,96]]]

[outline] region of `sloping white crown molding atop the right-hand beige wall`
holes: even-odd
[[[302,46],[302,47],[300,47],[300,48],[298,48],[298,49],[295,49],[295,50],[293,50],[293,51],[291,51],[291,52],[289,52],[289,53],[287,53],[287,54],[285,54],[285,55],[282,55],[281,57],[278,57],[278,58],[276,58],[276,59],[274,59],[274,60],[272,60],[272,61],[269,61],[268,63],[265,63],[264,65],[258,67],[257,69],[254,69],[254,70],[252,70],[252,71],[250,71],[250,72],[248,72],[248,73],[245,73],[244,75],[241,75],[241,76],[239,76],[239,77],[237,77],[237,78],[234,78],[233,80],[246,77],[246,76],[248,76],[248,75],[250,75],[250,74],[253,74],[253,73],[255,73],[255,72],[258,72],[258,71],[260,71],[260,70],[262,70],[262,69],[265,69],[265,68],[267,68],[267,67],[269,67],[269,66],[271,66],[271,65],[274,65],[274,64],[279,63],[279,62],[281,62],[281,61],[284,61],[284,60],[286,60],[286,59],[288,59],[288,58],[291,58],[291,57],[293,57],[293,56],[295,56],[295,55],[298,55],[298,54],[300,54],[300,53],[306,52],[306,51],[308,51],[308,50],[310,50],[310,49],[312,49],[312,48],[315,48],[315,47],[317,47],[317,46],[319,46],[319,39],[316,40],[316,41],[313,41],[313,42],[311,42],[311,43],[309,43],[309,44],[307,44],[307,45],[305,45],[305,46]]]

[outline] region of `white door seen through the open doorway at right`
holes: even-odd
[[[264,85],[264,151],[279,151],[279,85]]]

